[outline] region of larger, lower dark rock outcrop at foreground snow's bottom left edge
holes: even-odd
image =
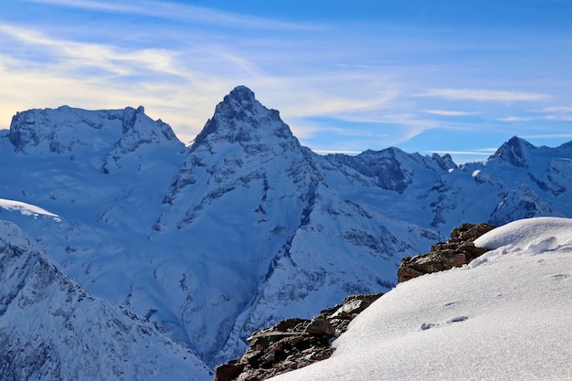
[[[353,295],[311,320],[285,319],[252,333],[246,353],[217,367],[215,381],[260,381],[311,365],[334,353],[333,339],[382,294]]]

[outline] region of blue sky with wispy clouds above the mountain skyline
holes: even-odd
[[[189,143],[237,85],[303,145],[481,161],[572,140],[572,0],[0,0],[16,111],[143,105]]]

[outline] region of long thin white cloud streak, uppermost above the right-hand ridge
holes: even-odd
[[[434,89],[417,95],[418,97],[439,97],[450,100],[469,101],[546,101],[550,96],[538,92],[475,90],[475,89]]]

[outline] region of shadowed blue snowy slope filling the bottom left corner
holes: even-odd
[[[207,380],[195,353],[93,298],[0,221],[0,379]]]

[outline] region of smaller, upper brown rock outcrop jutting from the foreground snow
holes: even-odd
[[[431,247],[431,251],[416,257],[404,258],[397,269],[397,281],[402,282],[431,272],[450,270],[471,262],[489,249],[477,248],[472,243],[484,233],[493,230],[493,225],[462,224],[450,232],[447,242],[439,242]]]

